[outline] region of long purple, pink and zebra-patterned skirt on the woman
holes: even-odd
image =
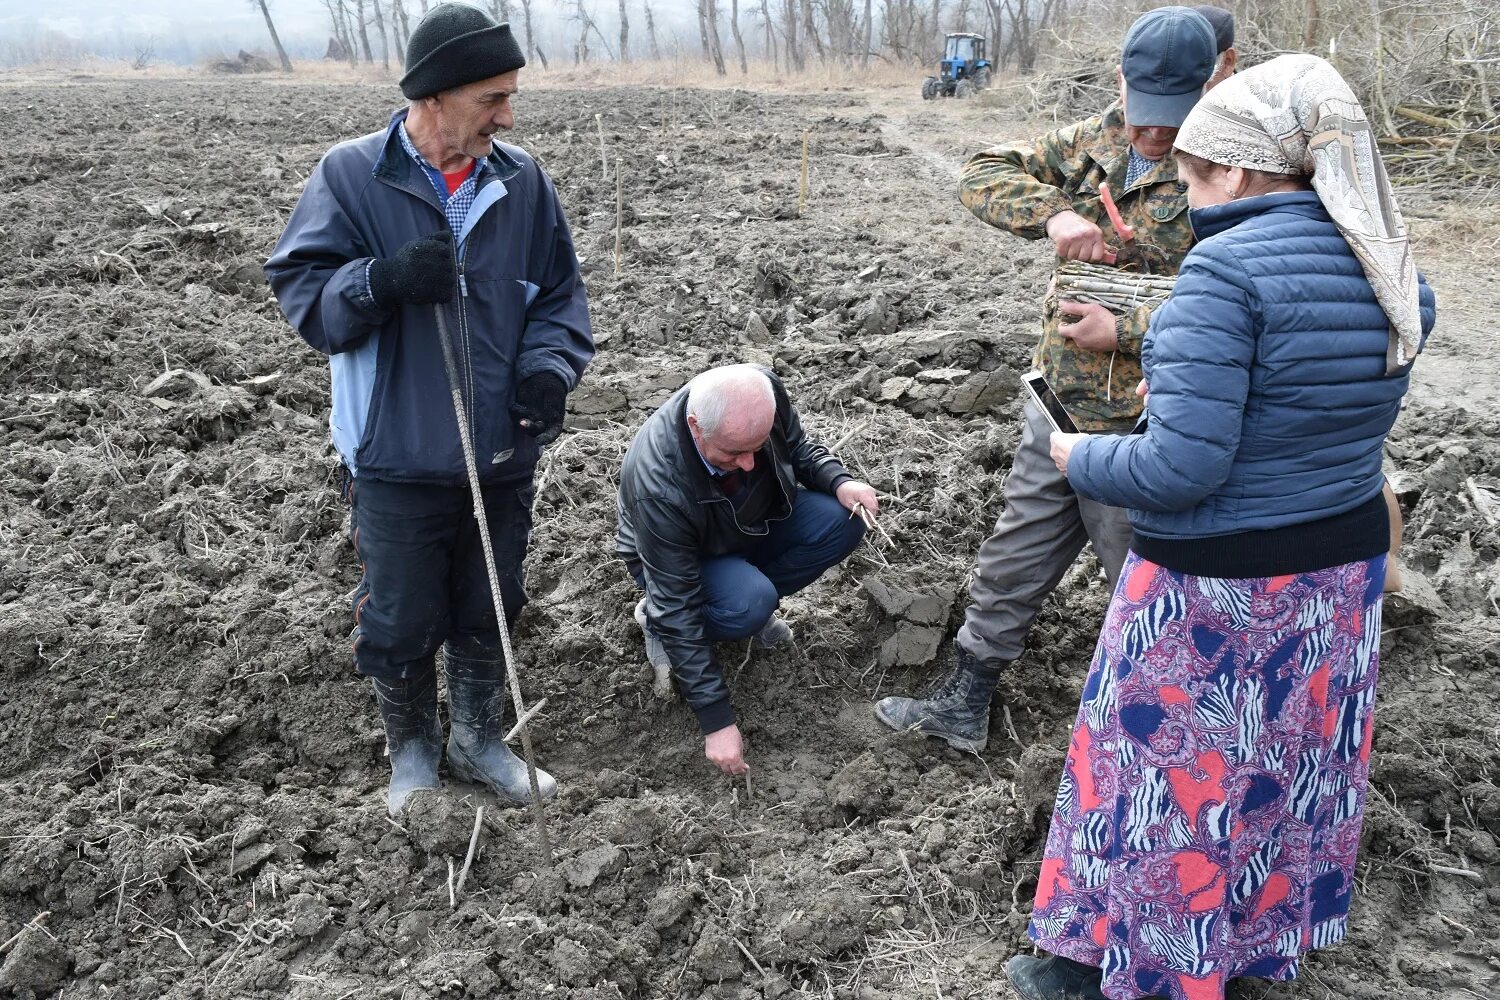
[[[1384,556],[1251,580],[1125,562],[1032,909],[1113,1000],[1222,1000],[1341,940],[1370,777]]]

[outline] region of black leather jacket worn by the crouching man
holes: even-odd
[[[765,373],[776,390],[768,448],[782,487],[768,520],[782,520],[792,513],[798,483],[832,493],[854,477],[802,432],[782,381]],[[645,579],[646,615],[705,733],[732,724],[735,711],[712,645],[704,637],[699,565],[705,558],[742,552],[764,534],[764,526],[754,534],[741,528],[734,507],[714,487],[687,427],[687,387],[680,388],[651,414],[626,451],[615,552],[633,576]]]

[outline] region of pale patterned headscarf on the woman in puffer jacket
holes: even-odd
[[[1386,372],[1416,358],[1412,241],[1376,133],[1336,69],[1317,55],[1280,55],[1230,76],[1192,108],[1176,147],[1226,166],[1310,177],[1390,319]]]

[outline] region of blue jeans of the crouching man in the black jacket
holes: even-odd
[[[710,642],[747,639],[771,619],[777,604],[796,594],[824,571],[843,562],[864,538],[864,522],[850,517],[828,493],[796,490],[786,520],[748,549],[732,556],[711,556],[699,567],[704,589],[704,634]],[[636,585],[645,580],[634,574]]]

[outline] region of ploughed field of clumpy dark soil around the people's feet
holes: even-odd
[[[1048,261],[969,217],[952,171],[974,133],[1032,126],[908,120],[915,102],[884,94],[526,94],[516,139],[567,202],[602,345],[538,471],[516,631],[562,784],[548,868],[528,814],[472,789],[384,816],[327,366],[260,273],[308,171],[380,127],[394,90],[0,94],[0,994],[1010,996],[1098,567],[1048,603],[982,756],[888,733],[870,706],[934,673],[1002,502]],[[620,276],[596,112],[624,163]],[[1422,198],[1426,244],[1478,225]],[[1440,303],[1492,318],[1452,259]],[[774,364],[896,498],[891,541],[788,603],[795,651],[723,649],[753,790],[652,694],[610,556],[630,433],[728,360]],[[1500,421],[1436,396],[1390,442],[1431,594],[1388,603],[1350,940],[1233,996],[1496,994]]]

